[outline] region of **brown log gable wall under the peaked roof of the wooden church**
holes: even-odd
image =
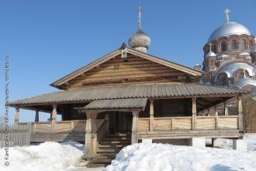
[[[178,76],[184,77],[184,80],[178,79]],[[99,67],[95,67],[85,74],[75,77],[69,81],[69,87],[72,89],[101,84],[139,83],[147,81],[184,82],[185,73],[129,54],[126,59],[116,56],[116,58],[102,63]]]

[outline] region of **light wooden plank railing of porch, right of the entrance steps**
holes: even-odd
[[[154,118],[152,125],[154,131],[161,130],[196,130],[199,129],[237,129],[238,116],[196,116],[195,121],[192,121],[192,116],[189,117],[163,117]],[[194,123],[194,127],[192,124]],[[139,132],[150,131],[150,118],[139,118]]]

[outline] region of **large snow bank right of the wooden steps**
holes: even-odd
[[[256,152],[140,143],[122,149],[104,170],[255,171]]]

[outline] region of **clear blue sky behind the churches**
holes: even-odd
[[[139,6],[142,28],[151,38],[148,53],[188,67],[202,63],[202,47],[226,21],[224,9],[231,10],[230,22],[256,34],[254,0],[0,0],[1,114],[5,56],[11,101],[57,91],[50,87],[54,80],[128,44],[137,31]],[[34,115],[22,110],[20,121],[33,121]],[[9,117],[12,122],[13,108]],[[40,114],[40,121],[47,118]]]

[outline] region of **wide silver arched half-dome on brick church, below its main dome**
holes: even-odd
[[[256,74],[256,68],[248,63],[242,63],[242,62],[236,62],[236,63],[229,63],[222,68],[220,68],[219,71],[217,71],[217,74],[215,75],[214,81],[217,81],[217,78],[220,74],[227,74],[227,77],[234,77],[237,70],[247,70],[249,76],[254,76]]]

